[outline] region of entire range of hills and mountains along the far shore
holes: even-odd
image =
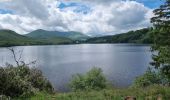
[[[0,46],[55,45],[74,43],[153,43],[152,28],[129,31],[123,34],[89,38],[78,32],[36,30],[26,35],[11,30],[0,30]],[[88,39],[89,38],[89,39]],[[76,41],[75,41],[76,40]],[[79,42],[77,42],[79,40]]]

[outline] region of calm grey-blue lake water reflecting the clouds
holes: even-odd
[[[151,61],[150,46],[134,44],[79,44],[51,46],[18,46],[22,60],[43,71],[57,91],[67,91],[73,74],[100,67],[116,87],[128,87],[143,74]],[[0,65],[14,64],[12,53],[0,48]]]

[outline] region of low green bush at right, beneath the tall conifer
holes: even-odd
[[[154,84],[162,84],[163,80],[159,72],[155,72],[149,68],[144,75],[135,79],[132,87],[147,87]]]

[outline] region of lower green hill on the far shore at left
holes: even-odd
[[[48,39],[35,39],[17,34],[11,30],[0,30],[0,46],[19,46],[19,45],[50,45],[50,44],[70,44],[71,39],[64,37],[52,37]]]

